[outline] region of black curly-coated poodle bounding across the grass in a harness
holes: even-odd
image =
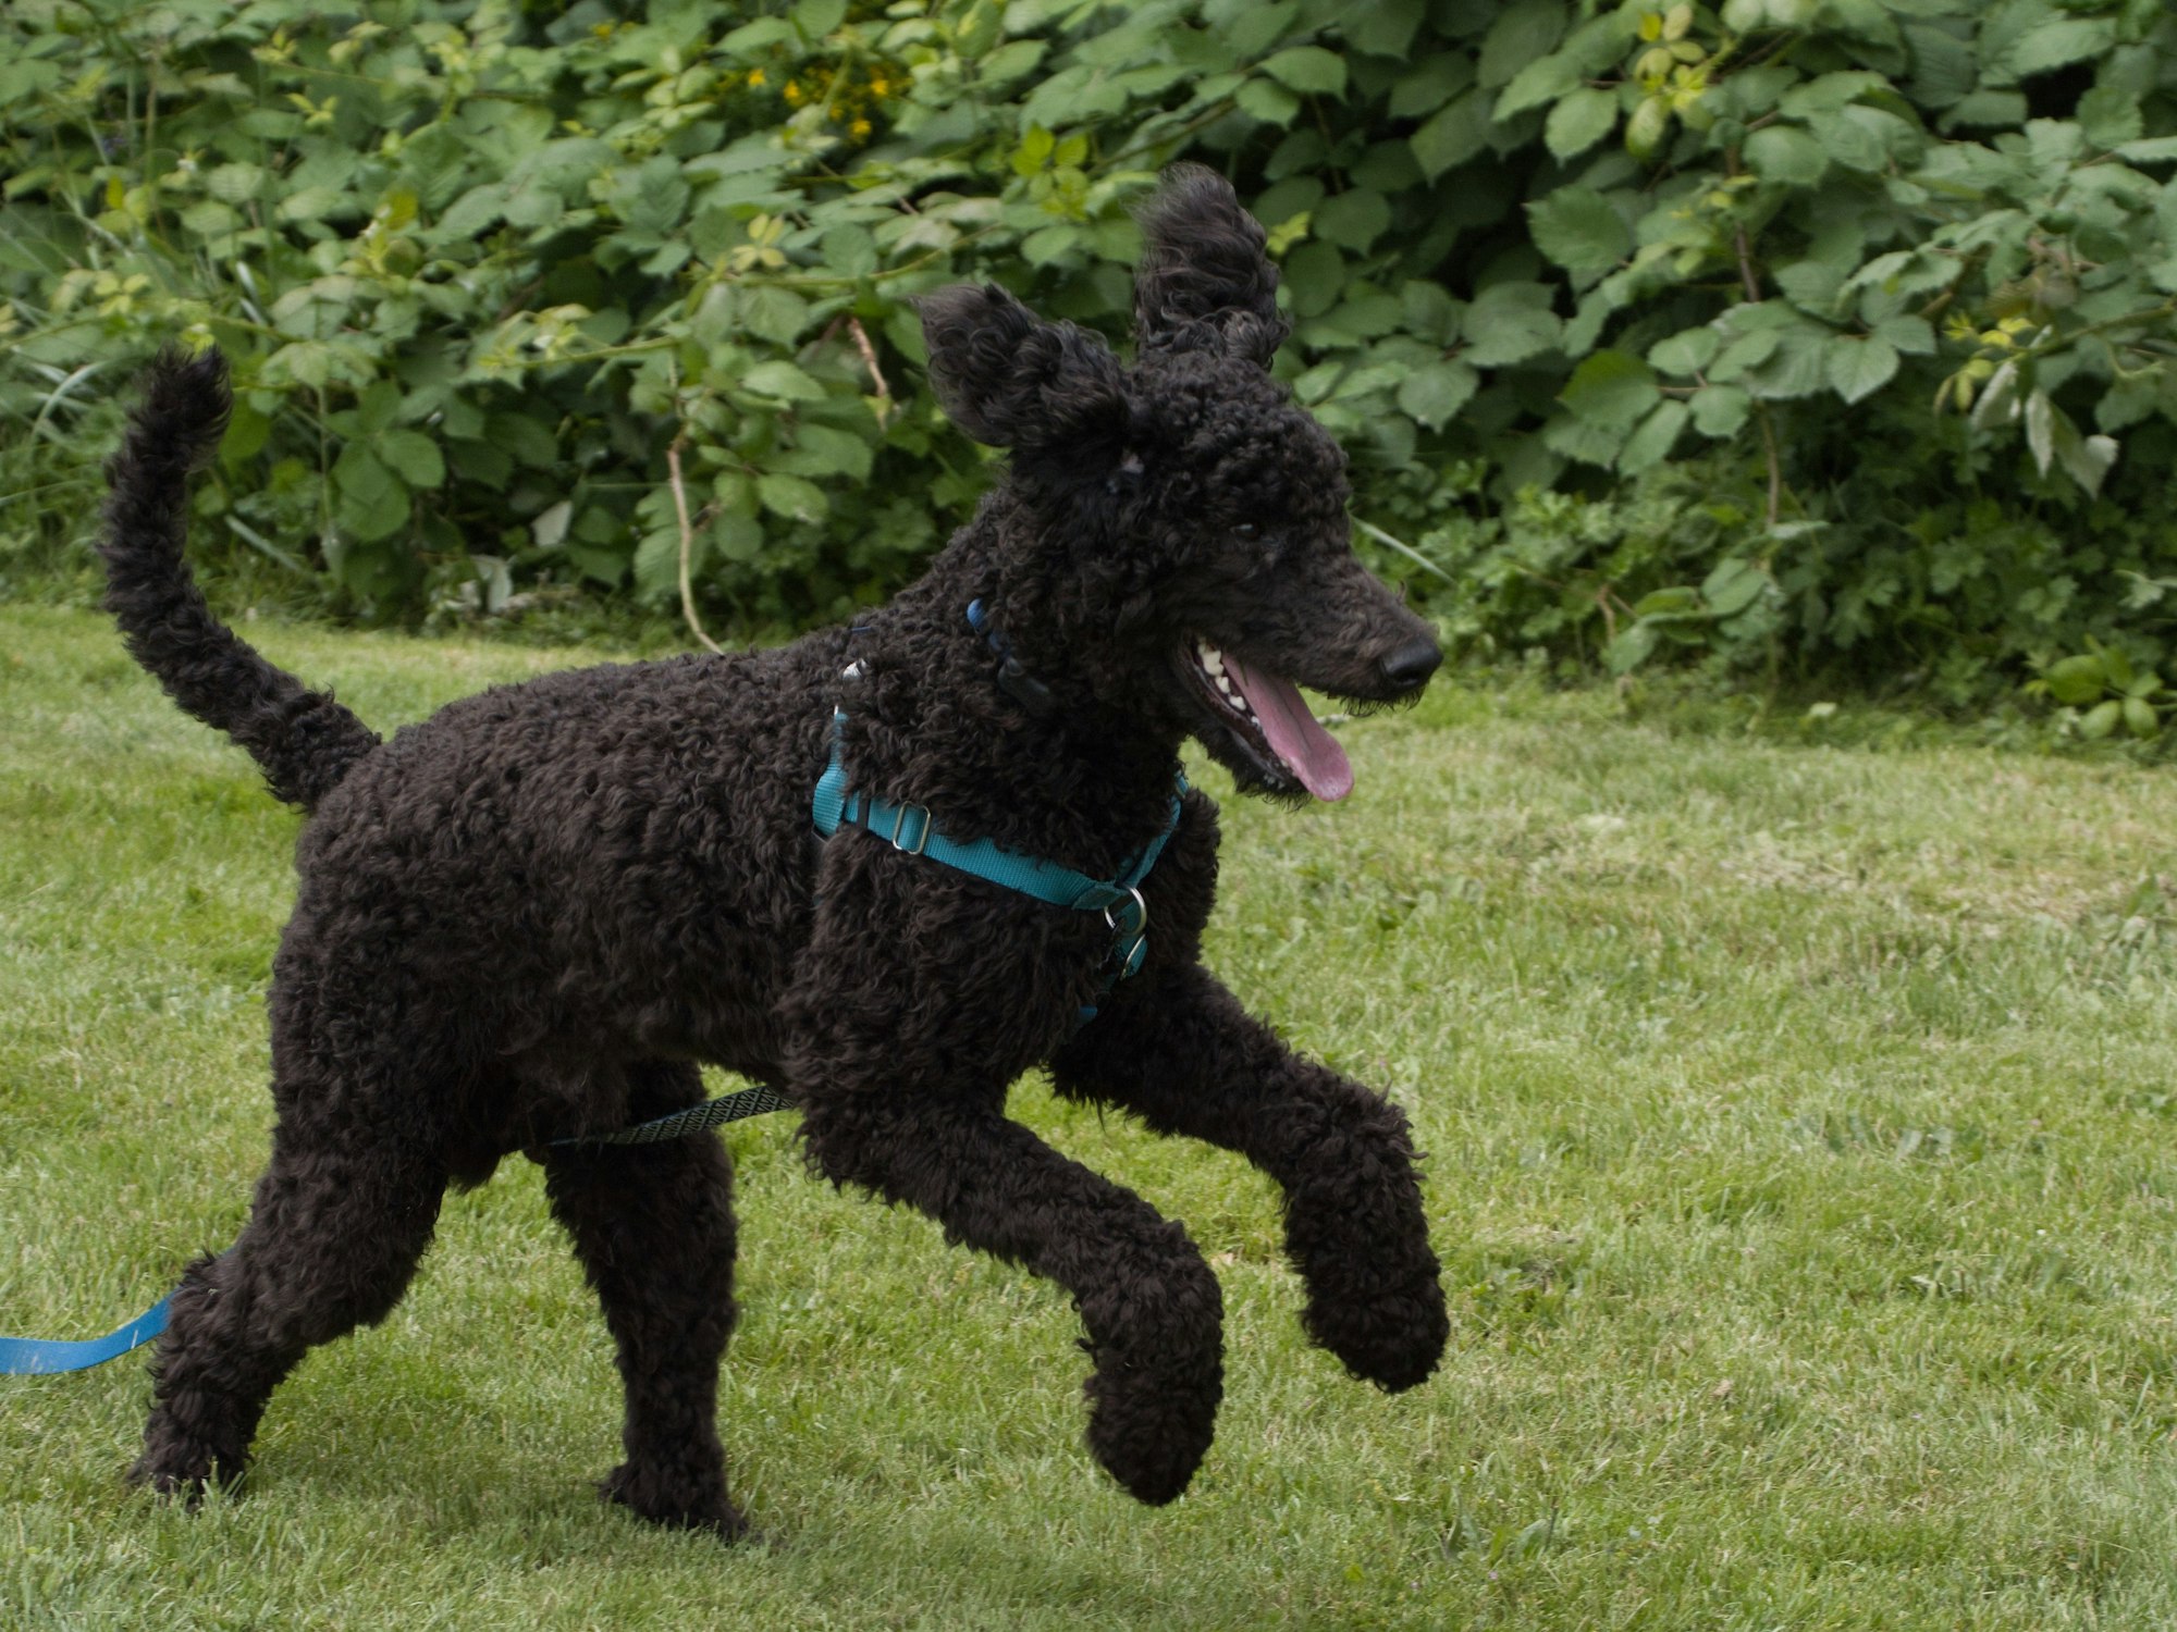
[[[1428,627],[1348,546],[1343,457],[1269,376],[1263,228],[1200,168],[1143,213],[1136,359],[995,285],[923,300],[951,418],[1012,450],[927,577],[777,651],[588,668],[381,742],[226,629],[183,564],[229,409],[163,357],[109,474],[109,607],[183,709],[309,812],[274,962],[272,1160],[235,1247],[189,1266],[135,1478],[235,1478],[279,1380],[398,1301],[451,1184],[509,1151],[605,1310],[627,1388],[605,1493],[745,1528],[716,1432],[734,1327],[714,1134],[555,1145],[777,1086],[810,1164],[1058,1282],[1088,1449],[1143,1501],[1202,1462],[1217,1279],[1186,1232],[1006,1118],[1060,1095],[1243,1153],[1284,1190],[1306,1330],[1411,1388],[1446,1343],[1406,1116],[1291,1053],[1200,964],[1217,807],[1339,799],[1297,685],[1417,696]]]

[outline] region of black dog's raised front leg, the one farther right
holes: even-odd
[[[1202,966],[1152,966],[1051,1062],[1058,1092],[1239,1151],[1284,1188],[1308,1336],[1382,1388],[1435,1371],[1450,1325],[1406,1114],[1295,1055]]]

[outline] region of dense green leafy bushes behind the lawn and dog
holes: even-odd
[[[211,335],[209,518],[366,614],[888,592],[984,479],[910,298],[1123,333],[1128,205],[1197,157],[1467,642],[2170,666],[2153,0],[17,0],[0,120],[11,481],[81,481],[124,363]]]

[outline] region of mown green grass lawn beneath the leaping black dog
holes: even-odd
[[[575,662],[250,633],[381,729]],[[239,1499],[122,1486],[139,1358],[0,1380],[0,1628],[2170,1625],[2177,783],[1933,735],[1439,685],[1345,729],[1345,805],[1226,801],[1210,957],[1413,1112],[1454,1332],[1350,1382],[1267,1182],[1021,1084],[1223,1279],[1171,1508],[1080,1449],[1060,1293],[768,1116],[727,1134],[758,1545],[594,1499],[610,1345],[514,1160]],[[98,618],[0,607],[0,1332],[104,1332],[242,1223],[294,823]]]

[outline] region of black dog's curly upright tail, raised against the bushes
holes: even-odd
[[[218,353],[170,348],[152,361],[128,440],[107,461],[107,609],[168,696],[248,749],[274,794],[313,809],[379,738],[331,692],[259,657],[211,616],[189,577],[189,472],[220,444],[229,409]]]

